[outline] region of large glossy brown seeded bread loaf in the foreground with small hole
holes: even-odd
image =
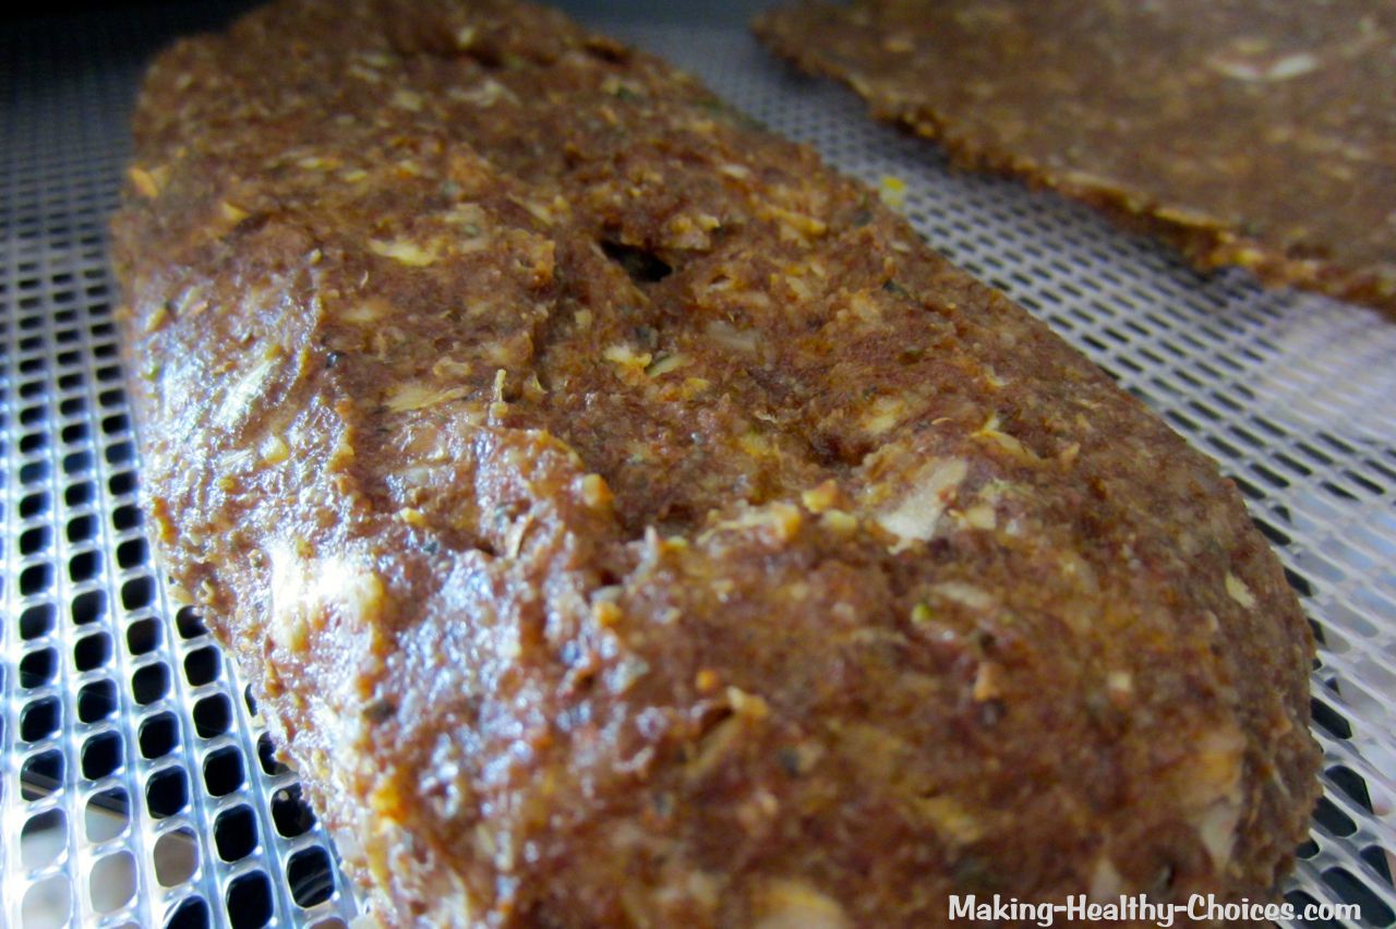
[[[1212,462],[866,187],[507,3],[145,81],[152,537],[391,923],[1268,894],[1312,644]]]

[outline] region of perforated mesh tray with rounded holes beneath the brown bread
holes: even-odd
[[[166,603],[135,505],[105,225],[144,59],[221,14],[165,7],[0,35],[3,925],[300,926],[355,912],[237,677],[198,617]],[[952,173],[736,22],[597,25],[881,186],[935,248],[1222,462],[1321,643],[1325,798],[1287,898],[1396,923],[1396,319],[1262,293],[1241,273],[1201,278],[1085,209]]]

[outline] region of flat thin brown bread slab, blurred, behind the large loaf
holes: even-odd
[[[1396,310],[1396,7],[1365,0],[800,3],[757,32],[965,166]]]

